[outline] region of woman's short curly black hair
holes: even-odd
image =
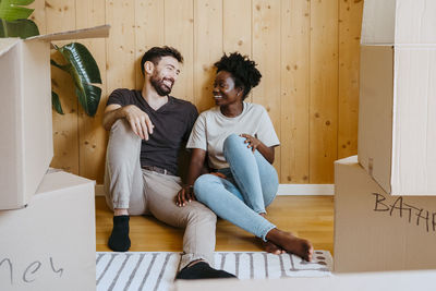
[[[261,82],[262,74],[256,69],[257,64],[239,52],[232,52],[229,56],[225,53],[214,65],[217,68],[217,73],[226,71],[232,74],[234,85],[244,89],[242,99],[245,99],[250,90]]]

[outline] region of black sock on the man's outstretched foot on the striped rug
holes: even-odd
[[[214,269],[206,262],[199,262],[195,265],[184,267],[175,276],[175,279],[193,280],[193,279],[213,279],[213,278],[237,278],[237,276],[225,270]]]

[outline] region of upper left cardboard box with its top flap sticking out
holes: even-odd
[[[109,26],[0,38],[0,210],[25,206],[53,156],[50,40],[106,37]]]

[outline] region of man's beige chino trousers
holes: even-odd
[[[118,120],[110,131],[106,156],[108,206],[112,210],[128,208],[133,216],[153,215],[172,227],[185,228],[180,268],[199,258],[214,267],[216,215],[198,202],[177,206],[181,179],[142,169],[140,154],[141,138],[124,119]],[[150,233],[149,240],[154,239]]]

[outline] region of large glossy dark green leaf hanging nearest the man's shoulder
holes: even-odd
[[[94,117],[101,97],[101,89],[92,85],[93,83],[101,84],[97,62],[89,50],[78,43],[68,44],[58,48],[58,50],[68,62],[66,65],[58,64],[58,66],[62,66],[62,70],[65,69],[69,71],[73,77],[80,104],[86,114]]]

